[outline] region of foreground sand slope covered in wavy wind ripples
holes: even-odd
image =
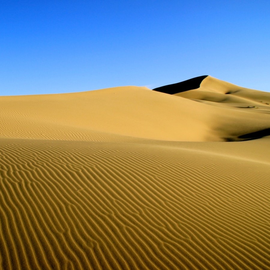
[[[268,269],[270,167],[141,144],[3,140],[4,269]]]

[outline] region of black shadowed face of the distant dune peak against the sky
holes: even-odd
[[[195,77],[192,79],[188,79],[183,82],[177,82],[169,85],[164,85],[161,87],[154,88],[154,91],[162,92],[165,94],[174,95],[177,93],[181,93],[184,91],[196,89],[200,87],[201,82],[207,77],[208,75],[203,75],[199,77]]]

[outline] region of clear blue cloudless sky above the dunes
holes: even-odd
[[[269,0],[0,2],[0,95],[201,75],[270,91]]]

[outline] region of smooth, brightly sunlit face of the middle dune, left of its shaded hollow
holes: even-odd
[[[91,140],[93,131],[160,140],[212,137],[210,113],[197,113],[204,105],[144,87],[2,97],[0,106],[2,137]]]

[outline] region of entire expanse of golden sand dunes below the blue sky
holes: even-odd
[[[0,97],[0,268],[270,269],[270,93],[194,79]]]

